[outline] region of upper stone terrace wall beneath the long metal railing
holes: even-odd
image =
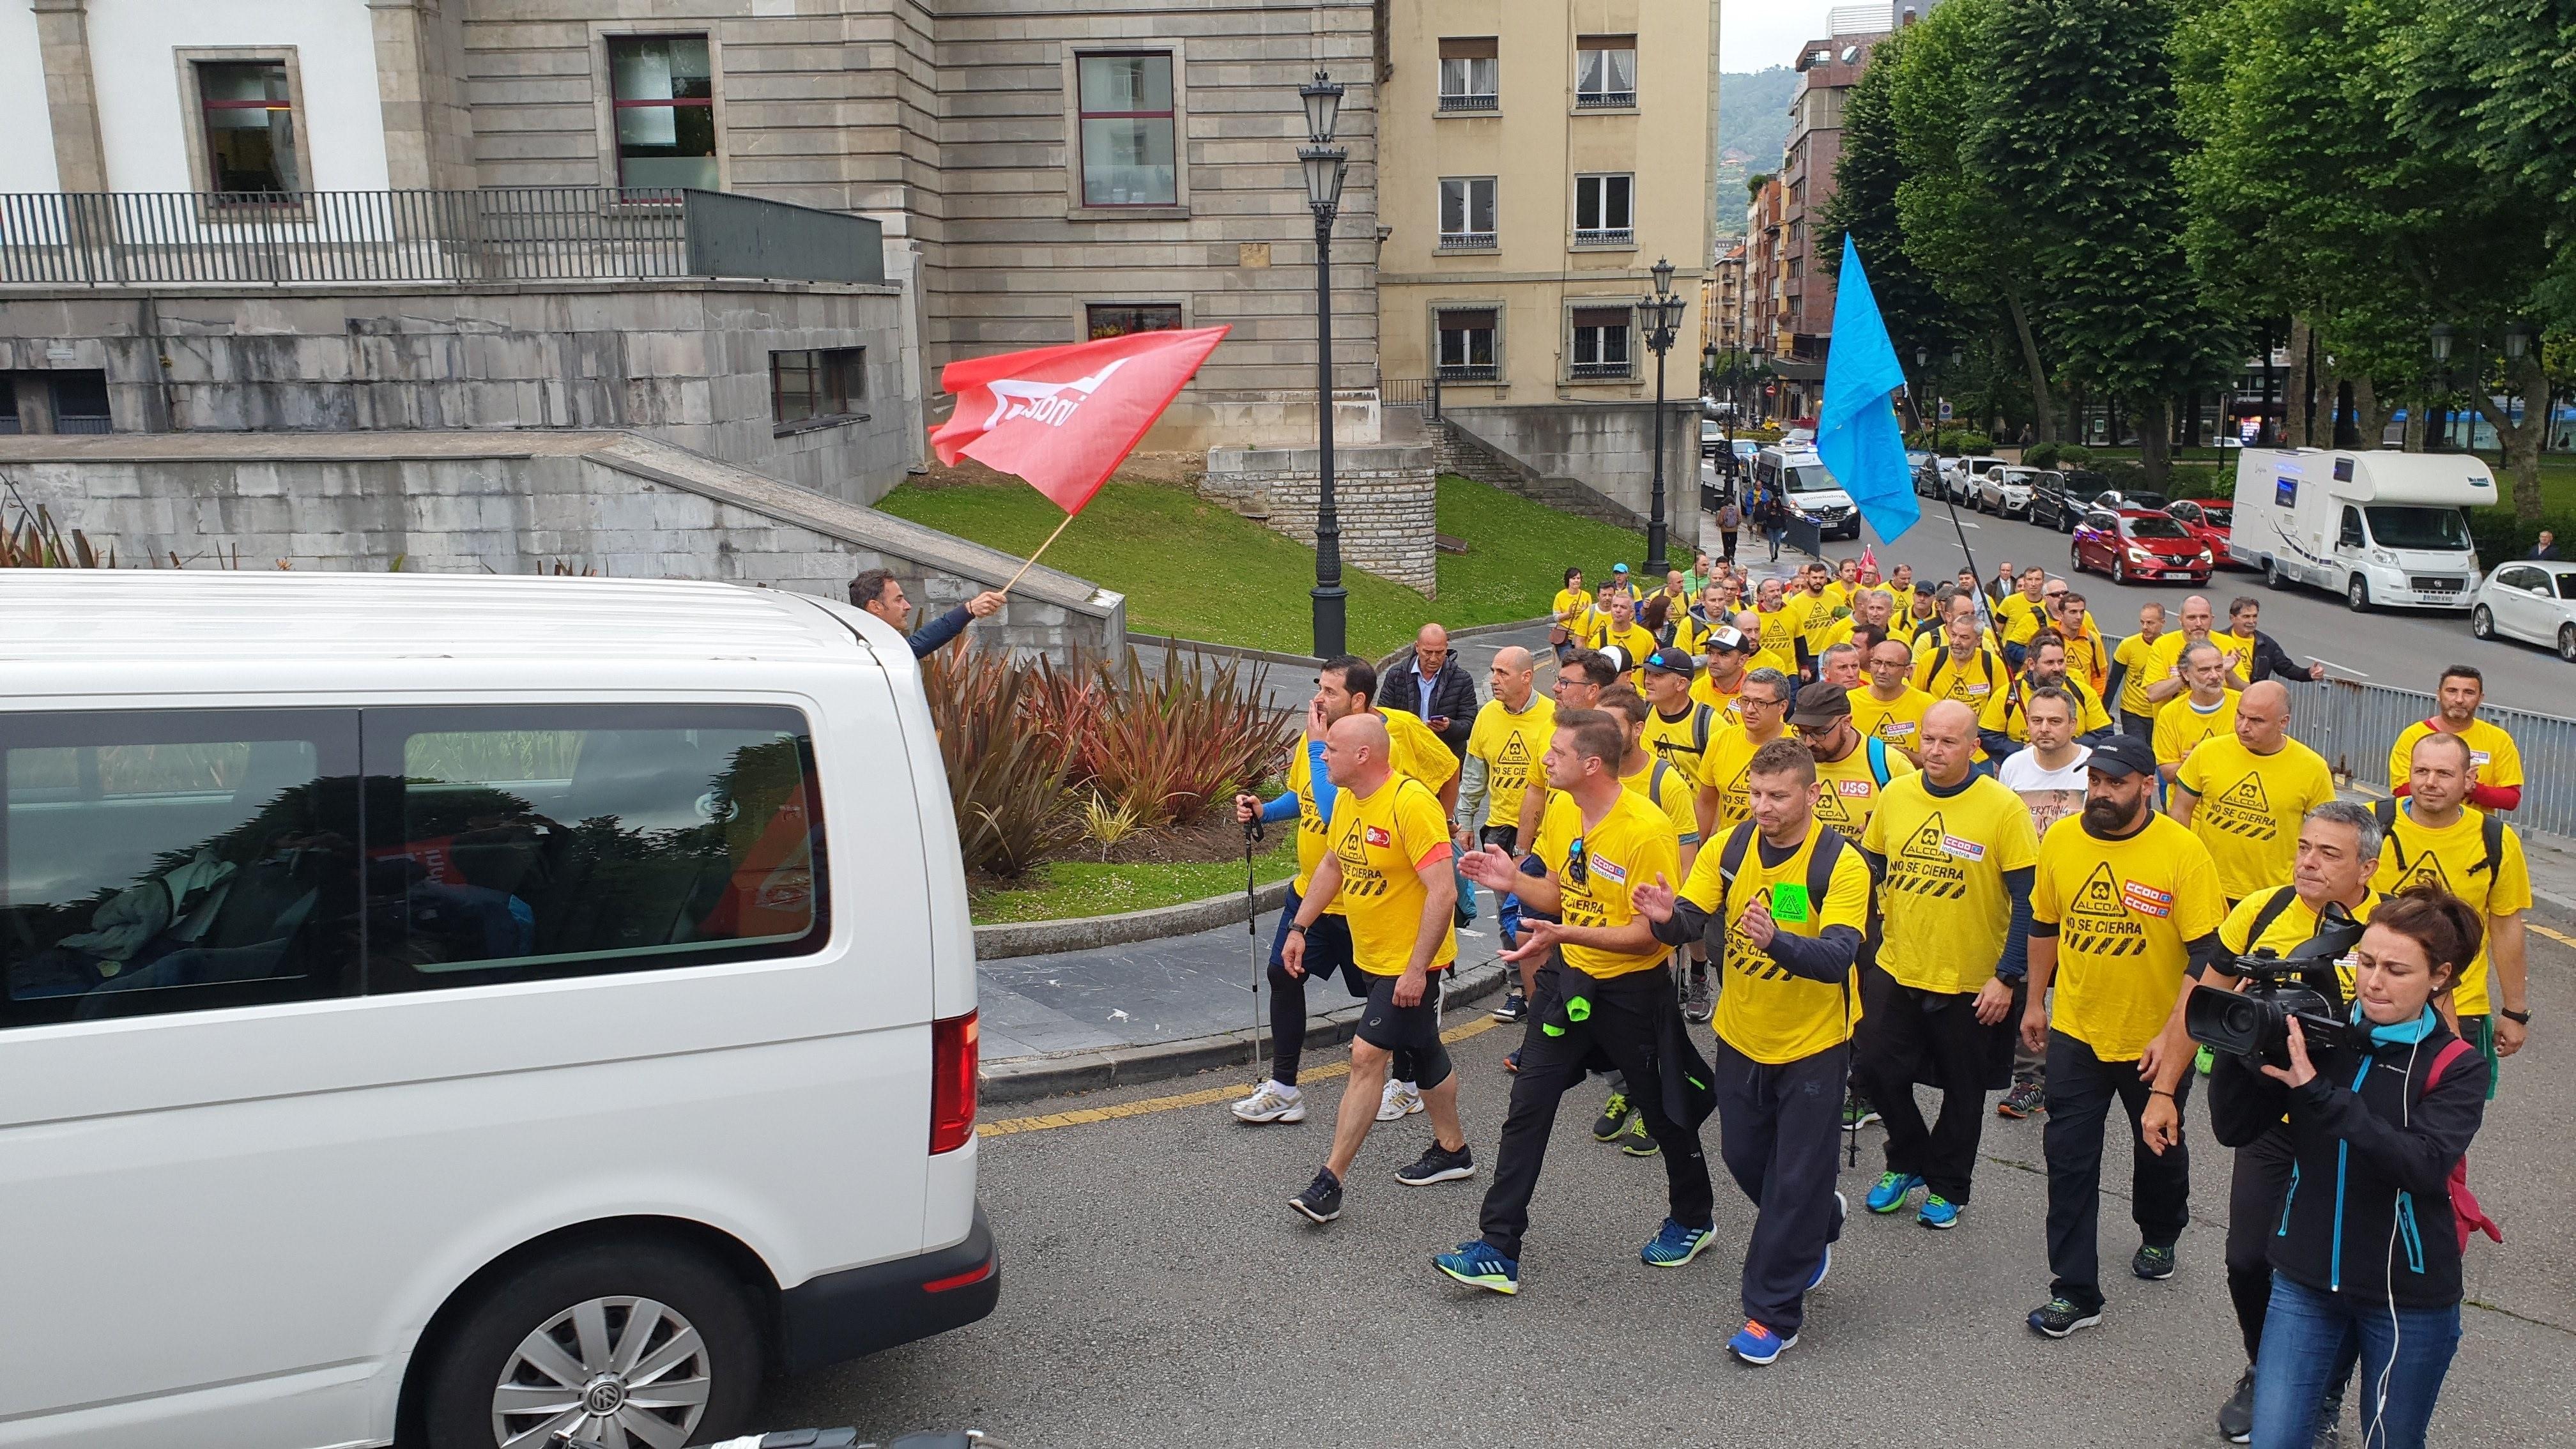
[[[544,281],[13,291],[0,369],[103,369],[121,433],[634,428],[873,503],[922,402],[896,286]],[[770,353],[866,348],[855,418],[781,428]]]

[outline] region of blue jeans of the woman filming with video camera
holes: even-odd
[[[2370,1449],[2419,1449],[2442,1374],[2460,1348],[2460,1305],[2354,1305],[2272,1274],[2272,1307],[2254,1359],[2254,1449],[2306,1449],[2344,1336],[2362,1341],[2352,1397]],[[2385,1403],[2383,1403],[2385,1395]]]

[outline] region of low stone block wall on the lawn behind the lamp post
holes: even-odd
[[[1211,449],[1198,492],[1314,547],[1324,490],[1316,449]],[[1425,598],[1440,590],[1440,474],[1432,449],[1334,449],[1332,503],[1342,565],[1391,578]]]

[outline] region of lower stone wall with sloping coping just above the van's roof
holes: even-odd
[[[0,438],[21,498],[121,565],[701,578],[848,598],[886,567],[914,627],[1020,559],[634,433]],[[1033,567],[987,645],[1126,647],[1126,598]]]

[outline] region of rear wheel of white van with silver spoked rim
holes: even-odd
[[[430,1364],[435,1449],[703,1444],[760,1392],[750,1294],[706,1258],[634,1238],[590,1243],[495,1284]]]

